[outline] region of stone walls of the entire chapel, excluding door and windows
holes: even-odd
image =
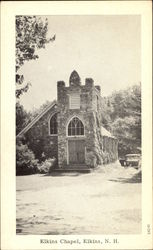
[[[74,79],[74,80],[73,80]],[[73,82],[74,81],[74,82]],[[80,96],[80,108],[70,109],[70,96]],[[94,86],[91,78],[81,81],[77,72],[70,78],[69,86],[63,81],[57,83],[57,106],[48,110],[26,133],[29,148],[40,161],[55,157],[60,168],[69,164],[67,128],[73,117],[78,117],[84,124],[85,164],[95,167],[105,162],[117,160],[117,140],[101,134],[101,89]],[[58,136],[49,134],[49,120],[57,113]],[[75,139],[79,139],[75,138]]]

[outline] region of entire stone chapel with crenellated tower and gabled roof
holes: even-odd
[[[25,138],[39,160],[56,158],[57,168],[78,168],[114,162],[118,142],[102,127],[101,89],[91,78],[85,83],[76,71],[69,86],[57,82],[53,101],[17,137]]]

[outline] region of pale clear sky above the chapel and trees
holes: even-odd
[[[32,86],[20,98],[27,111],[57,98],[57,81],[69,85],[76,70],[93,78],[102,96],[141,81],[141,20],[138,15],[45,16],[48,37],[56,39],[38,50],[39,58],[21,68]],[[44,18],[44,16],[42,17]]]

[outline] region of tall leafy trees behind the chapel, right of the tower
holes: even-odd
[[[119,156],[139,153],[141,148],[141,87],[134,85],[103,98],[103,126],[119,142]]]

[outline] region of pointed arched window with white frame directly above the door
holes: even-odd
[[[84,135],[84,126],[78,117],[74,117],[68,125],[68,136]]]

